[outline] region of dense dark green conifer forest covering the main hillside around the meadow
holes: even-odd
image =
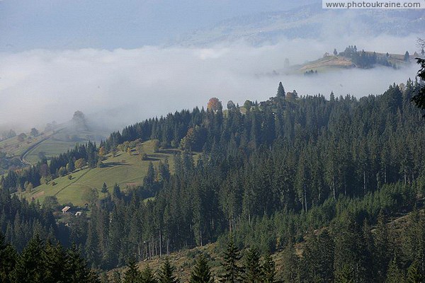
[[[410,102],[419,88],[409,79],[380,96],[331,93],[327,100],[286,93],[280,83],[276,96],[243,108],[227,103],[222,110],[215,98],[206,110],[139,122],[98,147],[80,145],[9,171],[0,180],[0,230],[22,254],[35,235],[65,247],[74,243],[98,270],[206,243],[225,246],[231,234],[235,248],[263,255],[285,250],[285,277],[276,280],[424,278],[425,219],[415,209],[425,192],[425,128],[423,113]],[[71,172],[76,161],[98,166],[99,152],[150,139],[160,150],[182,149],[174,171],[167,162],[149,166],[142,185],[105,190],[104,200],[89,204],[89,215],[66,226],[48,207],[10,194]],[[412,211],[409,225],[389,233],[388,218]],[[300,243],[302,254],[295,253]]]

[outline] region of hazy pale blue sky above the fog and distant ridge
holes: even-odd
[[[227,18],[308,2],[312,0],[0,0],[0,51],[163,45]]]

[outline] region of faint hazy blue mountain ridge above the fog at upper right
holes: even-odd
[[[421,10],[322,9],[321,2],[289,11],[257,13],[230,18],[212,28],[182,35],[178,45],[213,45],[244,40],[254,45],[277,42],[281,37],[316,38],[327,35],[387,35],[404,36],[425,30]]]

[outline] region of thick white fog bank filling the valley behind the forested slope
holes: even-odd
[[[70,120],[75,110],[110,129],[182,108],[205,106],[217,97],[243,104],[276,95],[278,82],[299,95],[322,93],[329,98],[351,93],[380,94],[392,83],[414,79],[419,67],[350,69],[305,77],[275,75],[290,64],[318,59],[336,47],[413,54],[416,36],[339,38],[334,42],[280,40],[252,47],[243,42],[212,48],[141,47],[134,50],[32,50],[1,53],[0,127],[42,127]],[[260,74],[260,75],[259,75]]]

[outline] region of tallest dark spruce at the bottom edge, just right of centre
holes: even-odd
[[[225,274],[222,275],[220,282],[242,282],[243,268],[238,265],[240,259],[241,255],[239,255],[237,247],[234,246],[233,236],[231,236],[229,243],[227,243],[227,250],[225,251],[225,262],[222,263],[222,266],[225,268]]]

